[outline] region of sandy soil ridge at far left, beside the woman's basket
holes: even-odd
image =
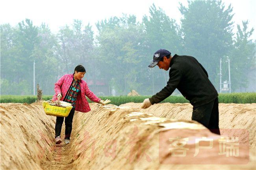
[[[41,169],[41,148],[54,142],[54,117],[41,104],[1,104],[1,169]],[[45,153],[42,153],[45,155]]]

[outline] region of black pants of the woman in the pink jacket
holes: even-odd
[[[65,139],[69,139],[72,131],[72,121],[74,117],[75,109],[72,108],[69,115],[65,117]],[[56,124],[55,124],[55,137],[60,136],[61,133],[61,126],[63,123],[64,117],[56,117]]]

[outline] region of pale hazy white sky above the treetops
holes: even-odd
[[[149,15],[149,7],[154,3],[165,13],[180,23],[179,2],[187,5],[187,0],[1,0],[0,24],[17,25],[25,18],[39,26],[45,22],[53,33],[59,27],[70,25],[73,19],[80,19],[83,25],[88,22],[93,25],[98,20],[110,16],[134,14],[141,21],[143,15]],[[241,24],[242,20],[249,20],[249,28],[256,28],[256,0],[223,0],[225,6],[233,6],[233,21]],[[236,26],[234,27],[236,28]],[[256,39],[256,31],[252,35]]]

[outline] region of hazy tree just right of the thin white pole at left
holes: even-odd
[[[60,70],[56,55],[59,45],[56,36],[44,23],[38,28],[38,38],[41,41],[34,46],[32,52],[35,59],[35,82],[41,86],[44,95],[51,95]]]

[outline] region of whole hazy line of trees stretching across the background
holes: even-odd
[[[197,58],[217,90],[219,61],[228,56],[232,91],[246,88],[247,75],[255,68],[256,44],[250,38],[254,29],[248,29],[249,22],[242,21],[234,34],[232,6],[225,7],[221,1],[189,1],[187,7],[180,4],[179,10],[180,24],[152,4],[141,22],[128,14],[98,21],[97,34],[81,20],[61,27],[56,34],[47,24],[35,26],[30,19],[14,27],[2,24],[1,94],[33,94],[35,61],[35,82],[44,94],[52,95],[59,77],[83,64],[85,80],[104,81],[117,95],[130,90],[151,95],[169,79],[168,72],[147,67],[160,48],[172,55]],[[226,64],[223,62],[223,68]],[[222,77],[228,80],[225,69]]]

